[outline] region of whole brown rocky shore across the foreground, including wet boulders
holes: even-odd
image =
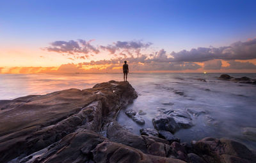
[[[159,131],[133,134],[115,119],[136,97],[128,82],[109,81],[0,101],[0,162],[255,162],[236,141],[204,138],[190,145],[169,132],[184,128],[179,118],[189,121],[200,112],[161,110]]]

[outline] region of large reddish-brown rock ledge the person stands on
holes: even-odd
[[[92,89],[4,101],[0,103],[4,108],[0,113],[0,162],[42,150],[79,128],[97,132],[104,118],[115,118],[136,97],[128,82],[109,81]]]

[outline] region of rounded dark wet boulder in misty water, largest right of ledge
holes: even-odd
[[[158,131],[170,131],[174,133],[178,129],[180,129],[179,124],[177,124],[173,117],[170,117],[166,114],[158,115],[153,118],[152,123]]]

